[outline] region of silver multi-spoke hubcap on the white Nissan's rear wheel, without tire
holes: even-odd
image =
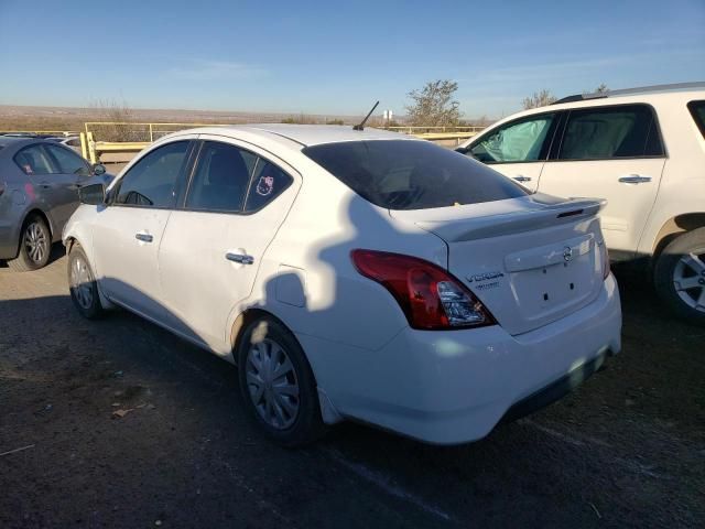
[[[270,338],[252,344],[245,369],[259,417],[276,430],[290,428],[299,415],[299,380],[284,348]]]

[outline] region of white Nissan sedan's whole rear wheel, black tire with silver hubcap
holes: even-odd
[[[238,341],[237,358],[242,401],[269,439],[296,447],[323,435],[316,381],[289,330],[272,317],[253,321]]]

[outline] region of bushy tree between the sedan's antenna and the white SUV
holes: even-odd
[[[410,91],[408,97],[412,99],[412,104],[405,108],[411,125],[420,127],[457,125],[460,119],[460,104],[454,99],[457,89],[456,82],[438,79],[426,83],[421,90]]]

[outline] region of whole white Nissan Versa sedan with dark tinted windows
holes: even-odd
[[[477,440],[620,350],[601,204],[426,141],[195,129],[82,199],[63,236],[80,314],[120,305],[237,364],[285,445],[343,419]]]

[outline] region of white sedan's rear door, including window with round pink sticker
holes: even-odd
[[[229,354],[227,322],[250,295],[300,183],[292,168],[252,145],[199,138],[187,194],[160,247],[161,284],[171,325]]]

